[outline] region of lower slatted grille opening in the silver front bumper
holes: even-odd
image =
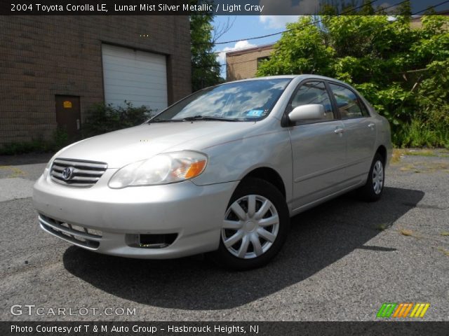
[[[93,250],[100,246],[100,240],[102,238],[101,231],[56,221],[53,218],[43,216],[43,214],[39,214],[39,223],[43,230],[70,241],[72,244],[91,248]]]

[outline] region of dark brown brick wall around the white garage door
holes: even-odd
[[[3,16],[0,144],[51,139],[55,94],[80,96],[81,120],[103,102],[102,43],[166,55],[169,104],[191,92],[186,16]]]

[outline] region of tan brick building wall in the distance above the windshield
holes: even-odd
[[[257,71],[257,58],[267,57],[273,51],[273,45],[227,52],[226,80],[252,78]]]

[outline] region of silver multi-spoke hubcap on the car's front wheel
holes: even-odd
[[[250,259],[267,252],[278,232],[279,216],[272,202],[260,195],[247,195],[227,209],[222,240],[230,253]]]

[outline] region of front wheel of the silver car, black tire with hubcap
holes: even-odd
[[[280,191],[262,179],[244,179],[229,200],[213,259],[236,270],[266,265],[281,250],[289,225]]]

